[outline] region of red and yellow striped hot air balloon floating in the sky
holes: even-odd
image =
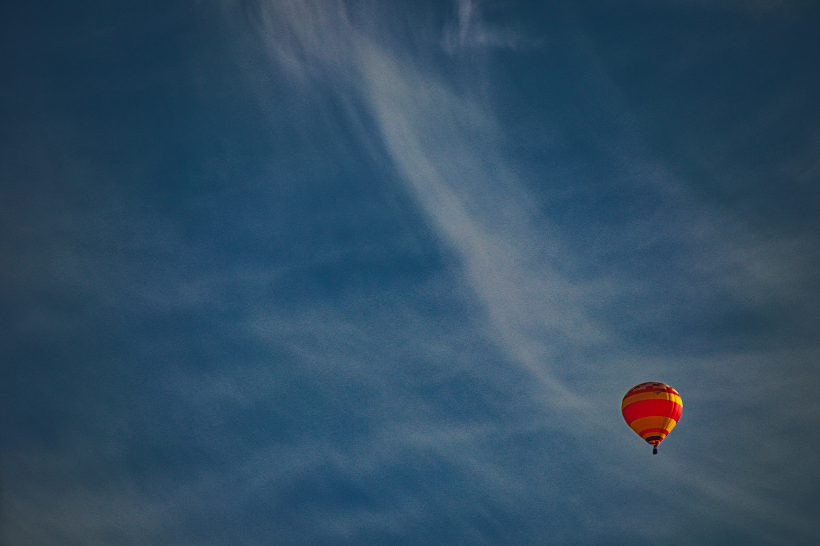
[[[658,454],[658,444],[675,428],[683,411],[681,395],[666,383],[641,383],[623,395],[621,413],[626,424],[652,445]]]

